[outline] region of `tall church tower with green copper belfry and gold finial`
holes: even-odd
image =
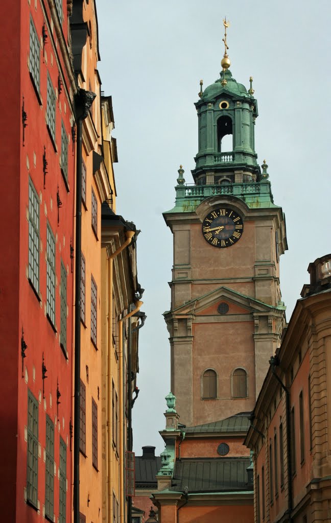
[[[225,53],[220,78],[195,106],[199,145],[186,184],[180,166],[175,207],[163,214],[174,235],[170,335],[171,391],[188,426],[252,411],[285,307],[279,256],[287,249],[268,165],[257,162],[258,116],[250,77],[233,78]]]

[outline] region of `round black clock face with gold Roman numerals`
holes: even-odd
[[[239,214],[226,207],[214,209],[202,222],[203,237],[214,247],[231,247],[240,240],[243,230]]]

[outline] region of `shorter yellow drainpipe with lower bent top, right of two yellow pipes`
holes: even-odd
[[[122,392],[120,395],[120,401],[122,402],[122,405],[120,404],[120,419],[119,419],[119,425],[120,425],[120,451],[119,451],[119,458],[122,459],[122,463],[120,463],[120,485],[123,486],[123,492],[120,496],[120,521],[121,523],[124,523],[124,447],[125,447],[125,432],[124,432],[124,414],[125,414],[125,389],[124,389],[124,357],[123,357],[123,330],[124,325],[123,322],[125,320],[128,320],[133,314],[139,311],[141,308],[143,302],[140,300],[137,300],[135,302],[135,308],[133,311],[129,312],[127,315],[125,315],[121,320],[119,320],[119,390]]]

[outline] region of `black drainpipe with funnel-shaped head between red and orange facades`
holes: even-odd
[[[75,96],[76,133],[76,237],[75,237],[75,346],[74,346],[74,523],[79,523],[79,403],[81,394],[81,250],[82,250],[82,134],[83,120],[95,93],[79,89]]]

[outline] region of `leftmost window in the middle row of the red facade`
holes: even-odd
[[[39,197],[29,180],[29,280],[39,293]]]

